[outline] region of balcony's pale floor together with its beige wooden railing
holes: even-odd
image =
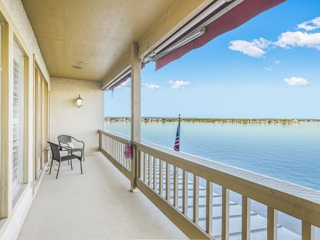
[[[319,237],[319,191],[143,141],[125,159],[128,138],[99,133],[83,175],[44,173],[18,239]]]

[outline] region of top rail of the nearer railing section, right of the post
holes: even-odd
[[[145,141],[138,150],[320,227],[320,191]],[[311,219],[312,218],[312,219]]]

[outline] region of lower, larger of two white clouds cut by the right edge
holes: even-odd
[[[274,44],[286,48],[289,46],[306,46],[320,50],[320,32],[306,33],[301,31],[286,31],[281,33],[278,41],[274,42]]]

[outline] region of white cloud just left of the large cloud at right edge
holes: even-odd
[[[259,39],[254,39],[253,41],[244,40],[233,40],[230,41],[229,48],[234,51],[240,51],[244,54],[253,57],[261,57],[265,53],[264,48],[267,48],[271,42],[260,37]]]

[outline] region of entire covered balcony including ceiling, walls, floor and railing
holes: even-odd
[[[2,0],[0,239],[15,239],[18,232],[19,239],[319,239],[319,191],[173,152],[139,135],[142,61],[168,53],[166,48],[184,41],[197,25],[230,20],[225,29],[211,27],[225,32],[248,20],[242,15],[282,1]],[[231,9],[242,9],[237,20],[227,15]],[[206,18],[210,22],[202,22]],[[15,48],[24,64],[15,74],[24,83],[17,191],[12,184]],[[103,127],[103,90],[112,90],[128,74],[132,160],[123,157],[125,136],[97,132]],[[75,105],[79,94],[81,108]],[[76,162],[72,171],[63,165],[57,179],[54,171],[45,171],[47,140],[56,142],[59,134],[85,139],[87,152],[100,151],[86,155],[83,175]],[[254,209],[256,202],[262,211]],[[282,224],[284,214],[293,216],[293,224]]]

